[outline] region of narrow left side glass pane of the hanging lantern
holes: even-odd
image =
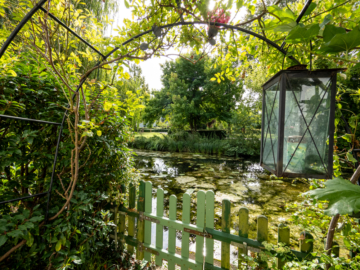
[[[265,90],[263,163],[275,170],[278,148],[279,84]]]

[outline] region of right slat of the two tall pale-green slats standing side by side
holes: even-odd
[[[206,192],[206,228],[214,229],[214,192],[209,190]],[[214,240],[206,238],[205,240],[205,262],[214,263]]]

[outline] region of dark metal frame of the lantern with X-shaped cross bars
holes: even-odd
[[[295,67],[296,68],[296,67]],[[300,67],[303,68],[303,67]],[[276,73],[271,79],[269,79],[265,84],[263,84],[263,107],[262,107],[262,128],[261,128],[261,146],[260,146],[260,165],[270,171],[271,173],[275,174],[278,177],[304,177],[304,178],[317,178],[317,179],[330,179],[332,178],[333,175],[333,148],[334,148],[334,130],[335,130],[335,125],[334,125],[334,119],[335,119],[335,96],[336,96],[336,77],[337,77],[337,73],[339,71],[343,71],[344,69],[323,69],[323,70],[307,70],[307,69],[288,69],[288,70],[282,70],[279,71],[278,73]],[[318,147],[316,146],[316,142],[314,140],[313,135],[311,134],[310,131],[310,125],[312,124],[312,121],[322,103],[322,101],[324,100],[325,97],[325,93],[322,96],[316,111],[314,112],[314,114],[311,117],[311,120],[309,121],[309,123],[307,123],[306,118],[304,116],[304,113],[301,109],[301,106],[299,104],[299,101],[296,99],[294,90],[291,89],[291,86],[288,86],[288,77],[289,75],[291,75],[291,78],[297,78],[297,79],[306,79],[306,78],[311,78],[316,80],[317,78],[329,78],[329,82],[330,85],[327,86],[327,89],[325,91],[325,93],[330,93],[330,108],[329,108],[329,120],[328,120],[328,139],[329,139],[329,144],[328,144],[328,148],[327,148],[327,153],[328,153],[328,160],[325,161],[322,159]],[[274,110],[274,104],[276,101],[276,96],[273,100],[273,104],[272,104],[272,108],[271,108],[271,112],[270,112],[270,119],[265,119],[265,115],[267,114],[265,112],[266,110],[266,90],[268,90],[270,87],[274,86],[275,84],[279,84],[279,89],[277,90],[277,94],[279,94],[279,108],[278,108],[278,119],[277,119],[277,125],[278,125],[278,134],[277,134],[277,142],[274,146],[272,138],[271,138],[271,133],[270,133],[270,143],[271,143],[271,151],[273,154],[273,159],[274,159],[274,169],[270,168],[268,165],[264,164],[264,150],[265,150],[265,142],[266,142],[266,136],[267,136],[267,132],[270,129],[270,121],[272,118],[272,114],[273,114],[273,110]],[[289,89],[290,88],[290,89]],[[296,104],[299,108],[299,111],[301,113],[301,117],[304,120],[304,123],[306,125],[305,131],[302,131],[302,137],[301,140],[298,142],[298,145],[295,149],[295,151],[293,152],[290,160],[288,161],[286,165],[286,167],[284,168],[284,139],[285,139],[285,107],[286,107],[286,94],[287,92],[289,92],[290,95],[294,95],[295,97],[295,101]],[[267,124],[267,130],[265,130],[265,125]],[[302,140],[305,137],[305,134],[309,132],[310,137],[312,142],[315,145],[316,148],[316,152],[319,155],[319,158],[322,161],[322,165],[325,169],[325,173],[324,174],[312,174],[312,173],[293,173],[293,172],[286,172],[286,169],[288,168],[288,165],[290,164],[294,153],[296,153],[300,143],[302,142]],[[277,150],[277,154],[275,157],[274,154],[274,149],[276,148]],[[325,166],[327,164],[327,166]]]

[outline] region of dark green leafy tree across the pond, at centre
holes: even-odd
[[[145,108],[148,123],[171,116],[174,127],[189,125],[196,131],[216,119],[230,122],[231,111],[242,93],[242,84],[227,79],[223,84],[210,81],[220,70],[213,59],[188,55],[162,66],[164,87],[154,92]]]

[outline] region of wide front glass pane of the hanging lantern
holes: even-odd
[[[283,171],[325,174],[329,146],[331,80],[288,78]]]

